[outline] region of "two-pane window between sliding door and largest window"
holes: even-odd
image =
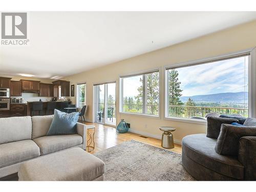
[[[120,112],[159,116],[159,71],[120,78]]]

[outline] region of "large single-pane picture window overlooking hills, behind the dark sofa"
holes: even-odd
[[[166,68],[166,117],[248,117],[249,54]]]

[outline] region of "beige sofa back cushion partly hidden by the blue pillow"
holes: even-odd
[[[52,124],[53,115],[32,117],[32,139],[46,136]]]

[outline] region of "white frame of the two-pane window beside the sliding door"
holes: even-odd
[[[158,72],[159,73],[159,98],[158,98],[158,103],[159,103],[159,110],[158,110],[158,115],[151,115],[151,114],[146,114],[146,113],[129,113],[129,112],[123,112],[123,78],[126,77],[133,77],[133,76],[138,76],[138,75],[144,75],[144,74],[150,74]],[[140,117],[150,117],[150,118],[156,118],[160,119],[161,118],[161,68],[154,68],[151,70],[144,70],[144,71],[139,71],[135,73],[130,73],[130,74],[125,74],[125,75],[119,75],[119,113],[124,114],[124,115],[132,115],[132,116],[140,116]],[[145,82],[143,81],[143,87],[145,85]],[[143,89],[143,96],[145,94],[144,92],[145,89]],[[143,99],[143,108],[145,107],[145,99]]]

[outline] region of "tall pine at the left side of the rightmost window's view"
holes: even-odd
[[[168,96],[169,96],[169,105],[183,105],[180,100],[182,96],[180,89],[180,83],[178,78],[178,71],[175,69],[169,70],[168,74]]]

